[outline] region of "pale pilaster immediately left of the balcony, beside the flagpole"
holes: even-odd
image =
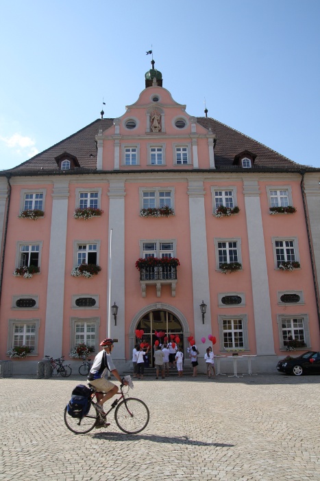
[[[111,305],[119,306],[116,317],[110,316],[110,335],[119,339],[114,344],[113,359],[125,359],[125,183],[110,181],[108,196],[109,229],[112,229],[112,272],[111,272]]]

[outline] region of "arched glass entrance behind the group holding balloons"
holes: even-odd
[[[187,338],[190,335],[190,330],[186,317],[175,307],[159,302],[146,306],[134,316],[130,326],[131,353],[135,344],[138,342],[135,334],[136,329],[143,329],[145,332],[143,340],[151,346],[149,350],[150,366],[153,366],[153,346],[158,339],[155,331],[163,331],[166,333],[168,339],[170,339],[170,335],[180,337],[180,346],[182,346],[184,357],[186,356],[185,347],[187,346]]]

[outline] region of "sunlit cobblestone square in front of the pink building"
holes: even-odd
[[[320,376],[136,381],[151,418],[135,436],[66,429],[83,381],[0,379],[0,480],[320,480]]]

